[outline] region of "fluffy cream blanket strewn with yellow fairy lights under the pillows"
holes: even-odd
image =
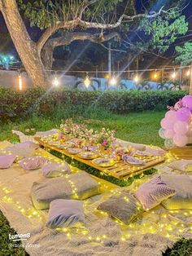
[[[7,143],[0,143],[5,148]],[[37,154],[60,161],[44,150]],[[161,166],[159,172],[168,172]],[[135,190],[140,183],[151,177],[137,179],[129,188]],[[181,236],[192,236],[190,211],[172,213],[162,206],[142,214],[129,226],[116,223],[95,208],[107,196],[123,188],[105,187],[108,192],[85,201],[85,227],[50,230],[45,226],[47,211],[35,210],[30,198],[34,181],[42,179],[41,170],[25,171],[18,164],[0,170],[0,210],[18,234],[30,233],[23,241],[30,255],[162,255]],[[105,184],[105,186],[107,186]],[[11,241],[12,242],[12,241]]]

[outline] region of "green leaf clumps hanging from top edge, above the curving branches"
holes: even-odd
[[[51,1],[51,0],[17,0],[20,11],[31,26],[46,29],[58,20],[74,20],[83,10],[85,19],[103,21],[104,15],[114,11],[123,0],[100,0],[84,7],[81,0]]]

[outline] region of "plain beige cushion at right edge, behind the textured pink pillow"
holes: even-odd
[[[186,174],[163,174],[161,179],[176,194],[162,202],[168,210],[192,209],[192,179]]]

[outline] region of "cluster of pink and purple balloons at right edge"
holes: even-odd
[[[192,96],[187,95],[169,107],[160,125],[159,136],[165,139],[166,148],[192,143]]]

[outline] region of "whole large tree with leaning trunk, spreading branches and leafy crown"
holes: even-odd
[[[137,8],[136,0],[0,0],[0,11],[20,58],[29,76],[40,84],[46,81],[46,69],[52,67],[55,47],[75,40],[103,44],[116,38],[121,50],[135,47],[164,53],[187,31],[181,16],[184,7],[181,0],[168,0],[164,6],[147,1],[143,9]],[[37,42],[28,34],[24,20],[41,29]]]

